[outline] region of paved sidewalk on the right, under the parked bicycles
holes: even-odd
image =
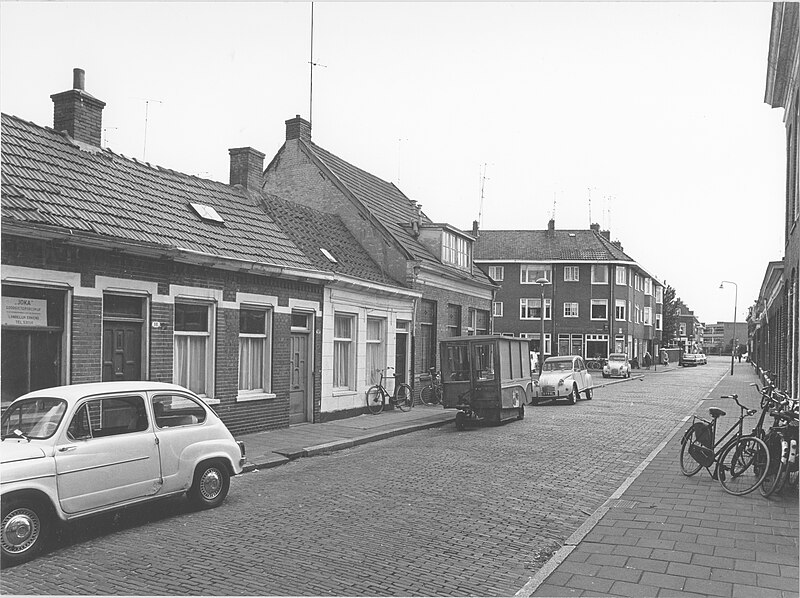
[[[718,397],[736,393],[757,408],[751,382],[752,368],[737,364],[693,413],[719,407],[727,429],[738,408]],[[705,470],[685,477],[678,455],[687,426],[670,431],[517,596],[797,597],[797,493],[732,496]]]

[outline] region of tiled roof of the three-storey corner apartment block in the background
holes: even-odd
[[[593,230],[482,230],[475,260],[634,260]]]

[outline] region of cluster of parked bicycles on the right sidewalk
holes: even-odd
[[[725,411],[712,407],[710,420],[693,416],[692,424],[681,441],[681,471],[693,476],[705,468],[726,492],[744,495],[758,488],[769,497],[784,487],[798,484],[798,402],[782,391],[751,384],[760,395],[760,416],[753,430],[744,432],[744,420],[754,417],[758,409],[739,402],[739,396],[723,395],[739,407],[736,422],[717,439],[717,423]],[[772,418],[769,427],[767,417]]]

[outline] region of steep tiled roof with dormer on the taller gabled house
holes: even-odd
[[[457,278],[489,283],[485,274],[477,268],[470,273],[442,264],[441,260],[411,234],[411,222],[417,219],[416,203],[406,197],[393,183],[353,166],[315,143],[301,143],[377,218],[414,259]],[[433,224],[424,213],[420,213],[419,220],[423,226]]]

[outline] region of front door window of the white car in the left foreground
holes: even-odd
[[[72,440],[143,432],[149,427],[144,398],[104,397],[86,401],[67,428]]]

